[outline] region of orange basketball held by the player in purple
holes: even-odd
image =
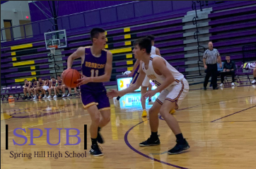
[[[81,74],[76,69],[68,69],[62,74],[63,82],[69,88],[76,88],[79,78],[81,78]]]

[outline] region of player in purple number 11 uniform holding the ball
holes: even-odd
[[[91,47],[79,47],[69,56],[67,69],[71,69],[74,59],[81,57],[82,78],[77,86],[81,89],[83,108],[91,115],[91,151],[93,156],[103,156],[97,141],[103,144],[100,129],[110,122],[110,101],[107,98],[103,82],[110,81],[112,72],[112,53],[105,50],[105,30],[91,30]],[[101,117],[100,117],[101,115]]]

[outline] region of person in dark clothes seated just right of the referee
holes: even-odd
[[[235,86],[235,62],[231,61],[231,57],[229,55],[226,56],[226,62],[223,65],[223,71],[221,72],[221,84],[220,87],[223,86],[224,77],[231,75],[232,76],[232,83],[231,86]]]

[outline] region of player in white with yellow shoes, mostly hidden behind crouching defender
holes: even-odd
[[[161,56],[160,54],[160,50],[157,47],[154,47],[153,45],[155,44],[155,37],[153,35],[148,35],[146,36],[151,40],[151,54],[157,54],[158,56]],[[128,76],[133,76],[134,72],[139,76],[139,70],[141,69],[142,66],[142,61],[140,59],[136,59],[136,62],[134,63],[134,67],[132,69],[132,73],[129,74]],[[139,68],[138,68],[139,67]],[[141,106],[143,109],[142,115],[141,117],[146,117],[147,113],[146,113],[146,99],[143,98],[142,96],[146,93],[147,88],[149,87],[149,91],[151,91],[152,85],[149,82],[149,77],[146,76],[146,78],[144,79],[142,85],[141,85]],[[134,84],[136,82],[136,78],[133,79],[132,84]],[[149,100],[151,101],[151,100]]]

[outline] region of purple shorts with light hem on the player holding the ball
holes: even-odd
[[[88,88],[83,85],[80,89],[84,109],[91,105],[97,105],[98,110],[110,110],[110,100],[107,98],[107,91],[104,86],[101,88]]]

